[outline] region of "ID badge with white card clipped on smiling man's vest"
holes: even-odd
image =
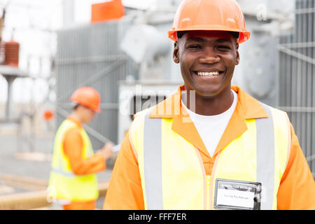
[[[215,209],[260,210],[261,183],[216,179]]]

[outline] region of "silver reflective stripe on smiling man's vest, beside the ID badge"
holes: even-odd
[[[269,118],[256,119],[257,182],[262,183],[261,210],[271,210],[274,199],[274,122],[269,107],[262,104]]]

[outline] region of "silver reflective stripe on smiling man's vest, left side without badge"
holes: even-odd
[[[148,209],[162,210],[162,119],[144,120],[144,181]]]

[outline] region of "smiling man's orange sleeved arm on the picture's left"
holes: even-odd
[[[126,134],[106,192],[104,209],[143,210],[141,179],[136,155]]]

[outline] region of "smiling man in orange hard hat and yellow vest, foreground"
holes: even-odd
[[[184,85],[136,114],[104,209],[315,209],[287,114],[231,85],[249,36],[237,1],[181,2],[169,38]]]

